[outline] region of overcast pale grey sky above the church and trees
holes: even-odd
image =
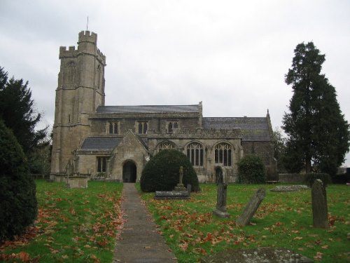
[[[350,122],[349,0],[0,0],[0,66],[29,81],[52,126],[59,46],[87,27],[106,55],[106,104],[197,104],[204,116],[265,116],[281,126],[298,43],[325,53],[323,73]],[[346,156],[350,166],[350,155]]]

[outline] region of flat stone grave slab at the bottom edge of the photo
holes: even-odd
[[[294,263],[313,262],[311,259],[286,248],[257,248],[246,250],[225,250],[200,260],[202,263]]]

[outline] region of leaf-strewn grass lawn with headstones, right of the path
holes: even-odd
[[[228,248],[287,248],[319,262],[349,262],[350,187],[329,185],[328,213],[331,227],[312,227],[311,190],[272,192],[275,185],[228,186],[229,219],[212,215],[216,206],[216,184],[201,184],[202,191],[190,201],[153,199],[143,193],[155,221],[179,262],[197,262]],[[254,192],[267,189],[266,197],[250,225],[236,227],[235,220]]]

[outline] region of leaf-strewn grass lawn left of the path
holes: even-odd
[[[0,262],[112,262],[123,225],[123,184],[88,182],[87,189],[36,181],[38,218],[20,239],[0,246]]]

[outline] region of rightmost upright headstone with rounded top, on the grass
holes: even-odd
[[[328,228],[328,207],[327,196],[323,182],[315,180],[311,189],[312,216],[314,217],[314,227]]]

